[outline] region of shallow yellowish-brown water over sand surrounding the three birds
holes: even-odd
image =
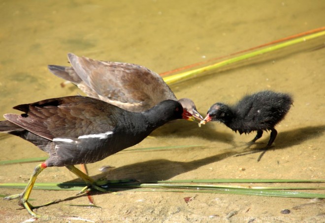
[[[17,112],[18,104],[76,95],[73,85],[47,70],[47,64],[68,65],[66,54],[99,60],[132,62],[158,73],[324,26],[325,2],[289,1],[1,1],[0,2],[0,113]],[[239,135],[219,123],[198,128],[175,121],[134,146],[203,145],[160,151],[120,152],[88,165],[90,175],[139,181],[166,179],[279,178],[324,179],[325,50],[304,50],[272,60],[171,85],[178,98],[195,101],[204,116],[215,102],[235,103],[262,89],[289,92],[294,103],[278,126],[278,137],[257,163],[259,153],[246,151],[255,134]],[[267,143],[269,133],[253,148]],[[43,157],[46,154],[17,137],[0,135],[0,160]],[[98,168],[115,168],[101,173]],[[0,167],[0,182],[27,182],[36,163]],[[76,177],[66,168],[44,170],[37,182],[65,182]],[[319,184],[316,186],[324,185]],[[0,194],[21,190],[0,189]],[[321,191],[318,191],[321,192]],[[324,192],[323,192],[324,193]],[[48,216],[80,216],[97,222],[322,222],[324,201],[242,195],[123,191],[95,194],[101,209],[64,204],[88,204],[75,192],[32,192],[35,205],[62,199],[36,210]],[[0,219],[29,218],[16,201],[0,200]],[[291,213],[283,215],[283,209]],[[7,216],[7,218],[5,218]],[[220,219],[214,219],[219,218]],[[53,219],[52,219],[53,220]],[[61,219],[61,221],[64,221]]]

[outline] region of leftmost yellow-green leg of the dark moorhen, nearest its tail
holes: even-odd
[[[31,195],[32,192],[32,188],[34,186],[34,183],[36,181],[36,178],[38,176],[38,174],[43,171],[43,169],[45,169],[47,166],[45,163],[39,164],[34,168],[34,171],[32,173],[31,179],[28,182],[25,190],[23,191],[23,193],[19,194],[19,195],[11,195],[11,196],[6,196],[4,197],[5,200],[12,200],[12,199],[17,199],[20,198],[18,201],[19,205],[23,205],[27,211],[35,218],[39,218],[40,216],[37,215],[35,212],[32,211],[33,206],[28,202],[28,198]]]

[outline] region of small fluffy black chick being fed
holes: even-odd
[[[234,106],[215,103],[210,107],[202,123],[219,121],[233,131],[238,131],[239,134],[257,131],[251,143],[260,139],[263,131],[270,130],[270,139],[265,147],[267,148],[272,145],[277,136],[274,126],[285,117],[292,103],[293,100],[289,94],[270,90],[260,91],[245,96]]]

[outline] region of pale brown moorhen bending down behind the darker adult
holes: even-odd
[[[99,61],[68,54],[72,67],[48,65],[56,76],[76,84],[89,97],[97,98],[130,112],[143,112],[176,96],[162,77],[148,68],[122,62]],[[203,117],[188,98],[179,100],[198,120]]]

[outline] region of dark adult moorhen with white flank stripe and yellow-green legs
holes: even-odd
[[[88,187],[105,191],[73,165],[94,163],[145,139],[168,121],[191,119],[174,100],[165,100],[145,112],[129,112],[104,101],[82,96],[47,99],[14,109],[25,112],[4,114],[0,132],[19,136],[49,154],[35,167],[24,192],[4,199],[19,198],[33,217],[28,199],[37,175],[46,167],[67,167]],[[86,191],[87,187],[82,191]]]

